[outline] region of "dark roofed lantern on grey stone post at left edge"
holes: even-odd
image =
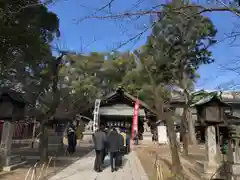
[[[0,153],[4,166],[18,164],[21,161],[21,158],[11,155],[11,146],[15,121],[24,119],[25,105],[22,93],[10,89],[0,90],[0,119],[4,121]]]

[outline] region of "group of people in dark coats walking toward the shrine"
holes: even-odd
[[[93,134],[96,151],[94,170],[102,172],[104,159],[109,153],[111,171],[117,171],[122,166],[122,158],[130,152],[130,135],[125,129],[108,129],[103,125]]]

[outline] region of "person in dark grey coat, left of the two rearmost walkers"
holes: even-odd
[[[104,153],[106,143],[106,134],[104,132],[104,126],[101,126],[100,129],[98,129],[93,134],[93,143],[96,152],[94,170],[97,172],[102,172],[102,156]]]

